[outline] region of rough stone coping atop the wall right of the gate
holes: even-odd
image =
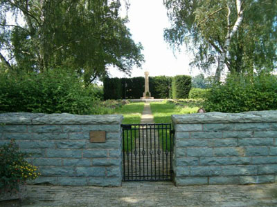
[[[207,112],[190,115],[172,115],[172,121],[175,124],[276,122],[277,110],[241,113]]]

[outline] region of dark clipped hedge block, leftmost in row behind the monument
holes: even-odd
[[[104,84],[104,100],[107,99],[121,99],[122,88],[121,81],[118,78],[105,78]]]

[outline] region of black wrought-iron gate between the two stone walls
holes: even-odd
[[[172,180],[171,124],[123,124],[123,181]]]

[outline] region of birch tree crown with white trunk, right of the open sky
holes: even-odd
[[[171,28],[164,37],[173,48],[184,43],[202,70],[217,64],[231,73],[273,70],[277,59],[277,1],[164,0]]]

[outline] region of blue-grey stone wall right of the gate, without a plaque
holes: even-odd
[[[277,111],[173,115],[177,186],[277,179]]]

